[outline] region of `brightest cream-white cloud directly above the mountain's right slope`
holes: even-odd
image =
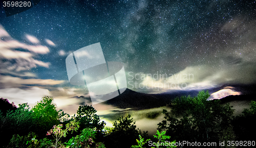
[[[137,77],[135,77],[137,75]],[[200,90],[218,85],[218,73],[208,67],[186,67],[178,73],[135,74],[132,81],[137,81],[138,88],[158,90],[162,93],[168,90]],[[131,77],[132,78],[132,77]],[[137,80],[136,80],[137,79]],[[131,82],[131,80],[130,80]],[[133,83],[133,86],[134,83]]]

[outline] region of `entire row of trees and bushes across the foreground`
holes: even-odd
[[[173,142],[176,140],[210,142],[236,141],[238,138],[247,141],[255,139],[255,136],[251,136],[255,133],[255,129],[251,128],[254,126],[253,120],[256,116],[255,101],[251,101],[250,109],[245,109],[241,116],[233,118],[232,106],[229,104],[223,106],[220,104],[220,100],[207,101],[208,97],[208,92],[202,91],[194,98],[188,96],[175,99],[172,102],[171,112],[163,110],[164,120],[158,124],[158,130],[163,131],[157,131],[154,135],[157,139],[154,145],[157,148],[162,147],[159,143],[165,143],[166,139]],[[100,122],[99,116],[96,114],[97,111],[92,106],[79,106],[77,114],[69,120],[69,123],[69,115],[61,111],[57,110],[53,98],[48,96],[38,101],[32,109],[27,103],[24,103],[19,104],[16,110],[8,111],[6,115],[0,111],[0,135],[11,139],[9,145],[6,144],[5,147],[104,148],[106,145],[106,147],[143,148],[145,143],[152,142],[150,139],[144,140],[144,135],[147,133],[142,134],[139,129],[136,129],[130,114],[120,116],[113,123],[113,128],[106,130],[104,139],[100,139],[97,135],[99,133],[103,135],[105,123]],[[49,126],[53,126],[50,131],[48,130],[51,127],[46,130]],[[78,131],[79,126],[83,129],[81,132],[74,133],[76,135],[69,134],[70,137],[74,136],[72,138],[67,137],[68,133],[72,134],[73,131]],[[28,133],[29,131],[36,131],[36,134]],[[47,135],[52,135],[53,138],[38,137],[37,135],[41,134],[41,131],[45,131],[45,133],[48,131]],[[9,135],[12,137],[8,137]],[[63,137],[69,139],[66,145],[61,143],[61,140],[65,139]],[[139,139],[137,139],[138,137]]]

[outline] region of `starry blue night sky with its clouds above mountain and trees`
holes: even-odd
[[[49,95],[60,108],[78,105],[73,97],[88,90],[69,83],[65,60],[98,42],[106,61],[123,63],[127,88],[136,92],[218,87],[211,97],[243,94],[243,86],[256,83],[255,6],[231,0],[41,0],[7,17],[1,4],[0,97],[33,106]]]

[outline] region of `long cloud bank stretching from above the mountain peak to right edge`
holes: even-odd
[[[222,84],[255,83],[255,64],[240,62],[228,64],[222,68],[211,66],[190,66],[178,73],[129,75],[128,88],[138,90],[157,90],[162,93],[168,90],[203,90],[218,87]],[[135,84],[137,83],[137,84]],[[136,91],[138,91],[136,90]]]

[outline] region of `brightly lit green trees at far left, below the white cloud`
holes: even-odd
[[[8,143],[12,135],[26,135],[35,132],[40,138],[45,136],[53,125],[67,120],[68,114],[57,110],[52,97],[43,97],[30,109],[28,103],[19,104],[16,110],[8,111],[6,115],[0,112],[0,136],[5,137],[3,145]],[[5,133],[5,135],[4,135]]]

